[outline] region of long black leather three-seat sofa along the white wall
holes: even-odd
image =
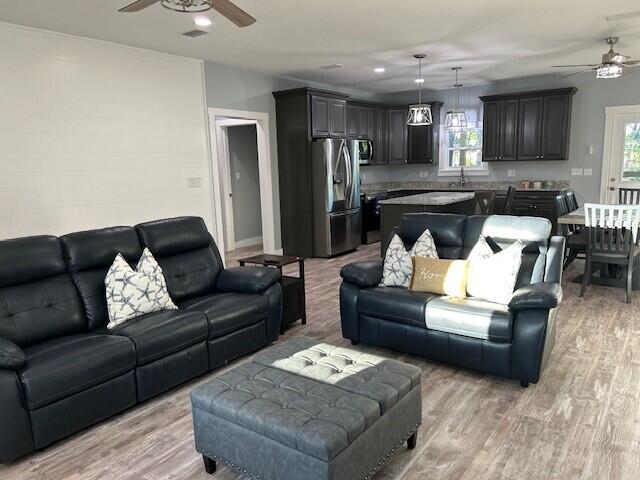
[[[179,309],[107,330],[106,272],[145,246]],[[0,462],[273,342],[279,276],[225,269],[196,217],[0,242]]]

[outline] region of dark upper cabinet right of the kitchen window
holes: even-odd
[[[576,91],[563,88],[480,97],[484,102],[483,161],[566,160]]]

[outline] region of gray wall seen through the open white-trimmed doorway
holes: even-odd
[[[256,126],[229,127],[227,137],[233,192],[233,232],[236,242],[239,242],[262,236]]]

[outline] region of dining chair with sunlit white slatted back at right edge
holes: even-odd
[[[593,264],[620,265],[627,270],[627,303],[631,303],[633,266],[640,254],[637,246],[640,205],[585,203],[584,220],[587,258],[580,296],[584,296],[591,281]]]

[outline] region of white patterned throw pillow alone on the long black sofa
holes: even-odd
[[[162,269],[148,248],[136,270],[121,254],[116,255],[104,279],[111,329],[127,320],[160,310],[175,310]]]

